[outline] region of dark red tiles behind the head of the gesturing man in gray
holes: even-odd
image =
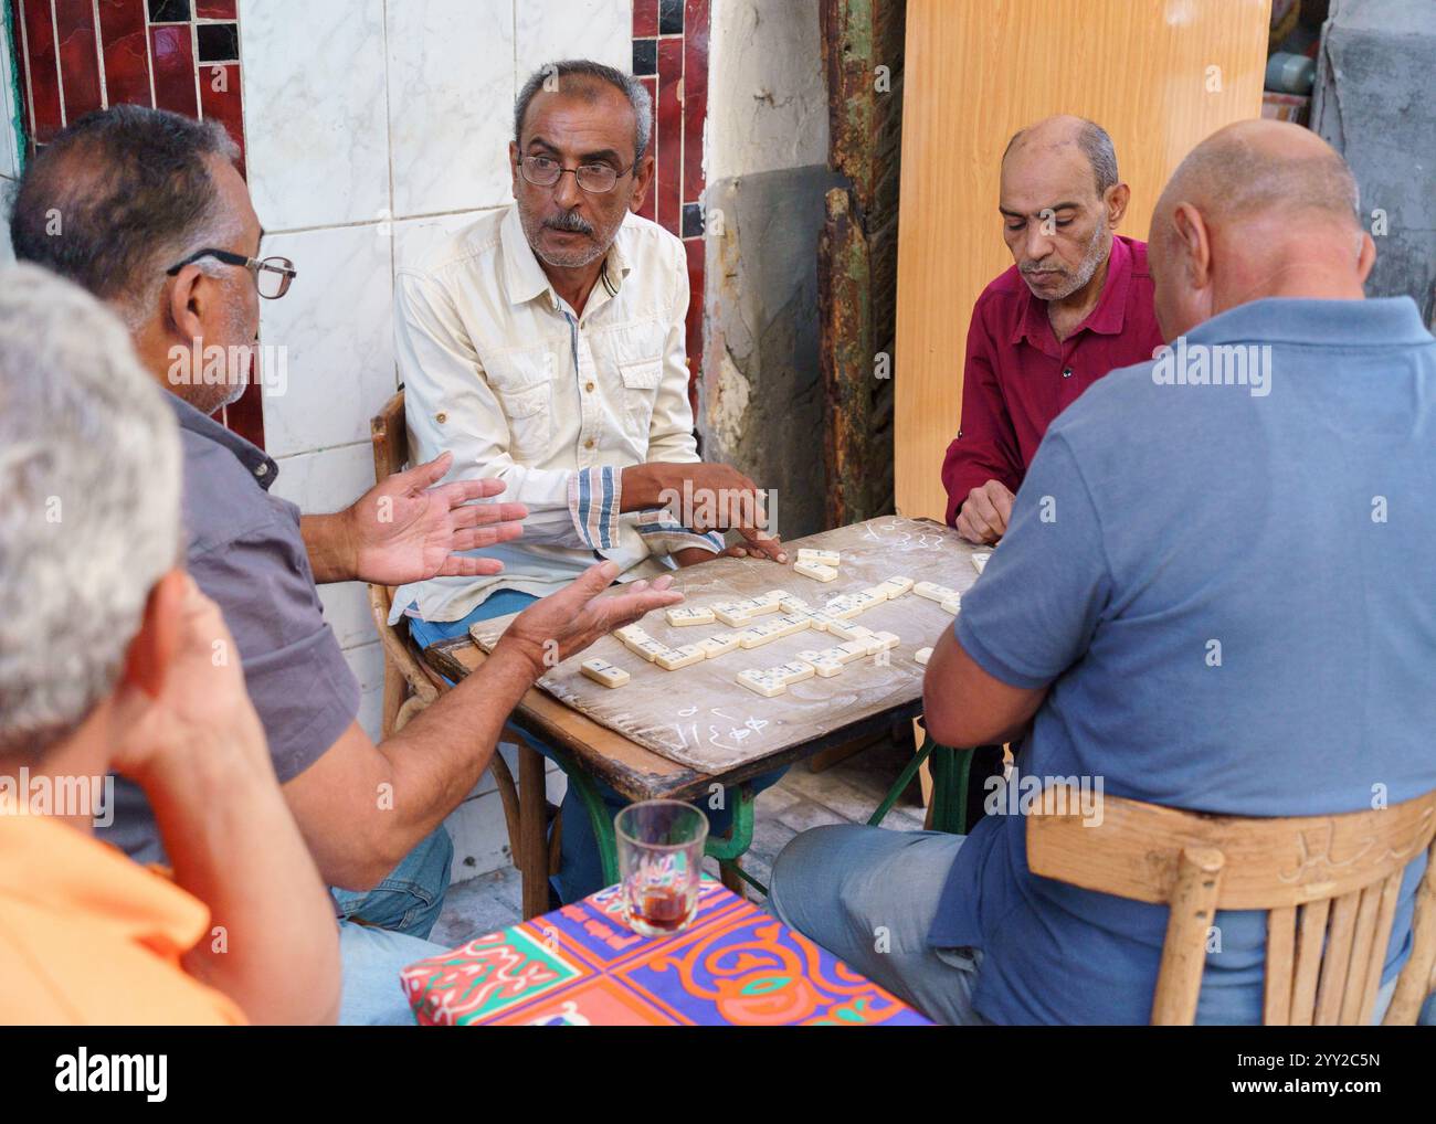
[[[244,171],[236,0],[13,0],[10,9],[32,151],[92,109],[149,105],[223,122]],[[257,386],[221,419],[264,444]]]

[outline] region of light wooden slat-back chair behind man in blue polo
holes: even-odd
[[[1196,1016],[1216,910],[1267,912],[1264,1022],[1371,1021],[1402,874],[1423,850],[1414,937],[1384,1025],[1416,1022],[1436,983],[1436,792],[1391,808],[1252,820],[1106,797],[1083,825],[1077,791],[1053,785],[1027,820],[1034,874],[1170,906],[1153,1025]]]

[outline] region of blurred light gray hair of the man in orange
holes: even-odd
[[[174,415],[112,310],[0,270],[0,757],[39,757],[113,690],[180,557]]]

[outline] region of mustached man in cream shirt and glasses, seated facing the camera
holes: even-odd
[[[477,576],[399,589],[393,622],[408,614],[422,646],[563,589],[596,558],[620,581],[718,553],[787,561],[757,485],[698,459],[686,256],[635,214],[653,177],[651,125],[648,92],[628,75],[543,67],[516,105],[516,204],[398,273],[414,456],[452,452],[449,479],[497,477],[528,512],[523,540],[477,553]],[[725,551],[727,528],[744,541]],[[569,805],[559,889],[573,900],[600,876],[587,814]]]

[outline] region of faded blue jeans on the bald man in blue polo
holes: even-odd
[[[773,863],[778,919],[936,1022],[982,1026],[979,949],[935,949],[928,930],[965,835],[814,827]]]

